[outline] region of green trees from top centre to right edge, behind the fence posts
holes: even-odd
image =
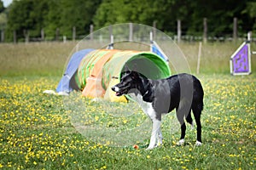
[[[97,28],[121,22],[139,22],[162,31],[177,30],[182,21],[183,34],[202,35],[203,18],[207,18],[208,35],[231,36],[233,18],[238,19],[239,32],[252,30],[253,0],[104,0],[97,8],[94,23]],[[246,12],[242,12],[247,8]],[[250,15],[249,15],[250,14]],[[255,24],[254,24],[255,25]]]

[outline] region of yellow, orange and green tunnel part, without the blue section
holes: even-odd
[[[131,50],[100,49],[84,56],[79,65],[76,82],[79,88],[83,89],[86,86],[86,79],[93,76],[100,78],[102,88],[107,90],[112,77],[119,77],[120,79],[122,71],[126,69],[140,72],[150,79],[171,76],[168,63],[157,54]]]

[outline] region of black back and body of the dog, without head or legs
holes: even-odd
[[[154,110],[158,113],[168,113],[174,109],[186,107],[187,109],[203,109],[204,92],[201,82],[189,74],[179,74],[166,79],[151,80],[152,86],[144,99],[153,102]],[[169,104],[169,105],[168,105]]]

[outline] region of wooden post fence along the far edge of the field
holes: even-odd
[[[202,36],[193,36],[193,35],[183,35],[182,34],[182,22],[181,20],[177,20],[177,34],[172,35],[170,37],[172,37],[172,40],[176,41],[176,42],[236,42],[236,41],[245,41],[247,40],[246,36],[243,37],[239,37],[238,36],[238,29],[237,29],[237,18],[234,18],[233,20],[233,32],[227,34],[227,35],[233,35],[233,37],[211,37],[207,35],[207,18],[203,19],[202,22],[203,25],[203,31],[202,31]],[[156,22],[153,23],[153,27],[156,28]],[[132,23],[129,24],[129,40],[131,40],[131,37],[133,37],[133,26]],[[81,40],[84,37],[86,37],[87,35],[77,35],[76,34],[76,27],[73,26],[72,29],[72,34],[70,37],[67,37],[65,35],[60,35],[60,29],[57,28],[55,30],[55,37],[46,37],[45,33],[44,33],[44,29],[41,30],[41,37],[31,37],[30,36],[30,31],[29,30],[24,30],[23,31],[23,35],[24,37],[18,39],[17,37],[17,33],[16,31],[13,31],[13,42],[67,42],[67,41],[77,41],[77,40]],[[94,26],[90,25],[90,40],[96,39],[96,38],[105,38],[105,37],[94,37],[93,34],[94,31]],[[111,31],[109,31],[111,32]],[[111,33],[110,33],[111,34]],[[0,38],[0,42],[5,42],[5,31],[2,30],[1,34],[0,34],[1,38]],[[108,36],[110,37],[110,36]],[[142,38],[143,37],[137,37],[137,39]],[[256,37],[252,37],[251,39],[252,42],[256,42]]]

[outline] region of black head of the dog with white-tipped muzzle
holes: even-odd
[[[131,94],[132,89],[137,88],[137,83],[140,81],[140,75],[136,71],[124,71],[121,74],[121,80],[111,89],[116,93],[116,96]]]

